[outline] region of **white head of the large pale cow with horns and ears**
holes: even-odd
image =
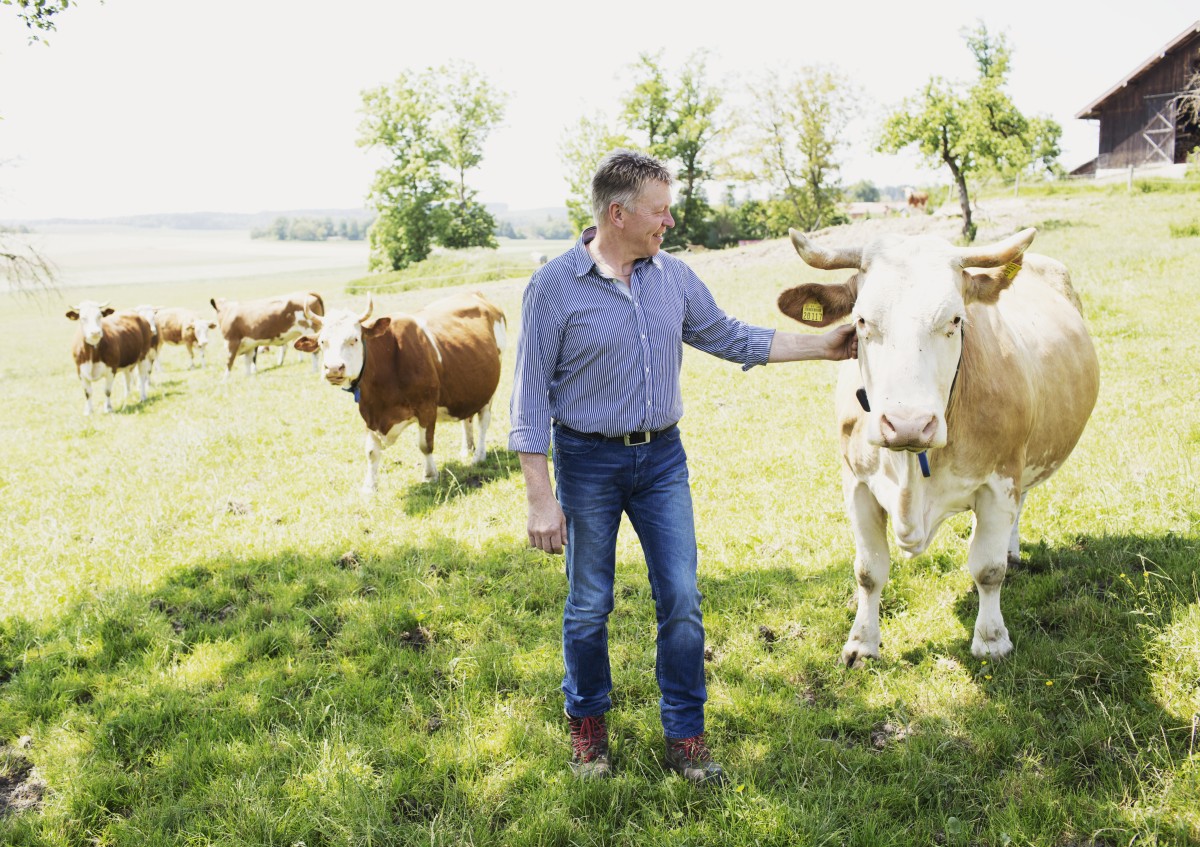
[[[962,334],[970,331],[966,307],[996,302],[1036,230],[974,247],[930,235],[888,235],[866,247],[826,248],[794,229],[791,235],[811,266],[857,271],[840,284],[791,288],[779,296],[779,308],[809,326],[846,317],[857,324],[858,367],[870,406],[866,439],[890,450],[946,446],[947,403]]]

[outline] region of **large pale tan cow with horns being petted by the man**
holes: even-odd
[[[858,360],[842,365],[836,392],[858,582],[841,654],[848,666],[878,657],[889,517],[899,547],[917,555],[943,521],[974,512],[971,653],[1013,649],[1000,588],[1008,563],[1020,561],[1021,506],[1075,446],[1099,389],[1067,269],[1025,256],[1034,234],[976,247],[892,235],[826,248],[792,230],[809,265],[857,270],[841,284],[805,283],[779,298],[785,314],[810,326],[846,316],[858,325]]]

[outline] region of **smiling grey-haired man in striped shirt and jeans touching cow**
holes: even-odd
[[[659,710],[666,764],[696,783],[724,781],[704,740],[704,627],[683,415],[683,343],[754,365],[856,355],[853,326],[821,336],[728,318],[682,260],[661,253],[671,173],[616,150],[592,181],[596,226],[538,270],[524,292],[509,446],[521,455],[529,543],[566,549],[563,693],[572,769],[610,773],[608,614],[617,530],[629,515],[658,615]],[[557,499],[546,453],[553,438]]]

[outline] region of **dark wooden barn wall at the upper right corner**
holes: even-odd
[[[1160,154],[1144,136],[1154,113],[1166,106],[1171,95],[1183,90],[1188,77],[1200,70],[1200,34],[1176,47],[1165,59],[1141,77],[1112,94],[1099,107],[1100,113],[1100,168],[1124,168],[1164,162]],[[1168,120],[1175,126],[1174,110]],[[1175,139],[1156,136],[1172,162],[1186,161],[1193,142],[1190,133]],[[1174,143],[1178,140],[1180,143]]]

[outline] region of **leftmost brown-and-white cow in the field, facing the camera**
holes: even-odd
[[[150,324],[137,312],[114,312],[106,304],[84,300],[67,310],[67,318],[79,322],[71,354],[76,373],[83,383],[85,415],[91,414],[91,384],[104,380],[104,412],[113,410],[113,380],[125,374],[125,398],[133,392],[133,372],[138,372],[142,401],[150,383]]]

